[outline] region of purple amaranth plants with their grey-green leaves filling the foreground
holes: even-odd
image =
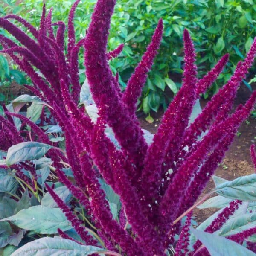
[[[256,174],[233,181],[214,177],[215,189],[196,201],[256,101],[255,91],[229,113],[253,63],[256,39],[227,84],[194,119],[192,109],[228,55],[198,80],[194,45],[185,29],[183,86],[153,136],[140,128],[135,111],[163,20],[122,93],[108,61],[123,45],[106,52],[115,1],[98,0],[86,37],[76,43],[78,3],[68,18],[67,55],[64,23],[52,24],[45,6],[39,29],[12,16],[34,38],[0,18],[0,26],[23,45],[2,36],[4,52],[31,78],[34,86],[27,87],[36,95],[18,97],[3,106],[0,116],[1,247],[25,244],[12,256],[254,255]],[[58,26],[56,35],[52,25]],[[80,47],[87,77],[81,91]],[[25,116],[19,112],[26,102],[32,104]],[[253,147],[251,153],[256,166]],[[192,210],[213,192],[218,197],[201,208],[220,210],[193,229]],[[57,233],[63,239],[52,237]]]

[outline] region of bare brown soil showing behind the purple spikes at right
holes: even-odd
[[[256,89],[256,84],[253,84],[252,87],[253,89]],[[250,95],[250,91],[244,86],[244,84],[242,84],[238,90],[233,109],[235,109],[239,104],[244,104]],[[201,100],[201,107],[204,108],[206,103],[207,100]],[[152,124],[145,121],[145,116],[140,117],[140,124],[143,129],[146,129],[151,133],[155,133],[163,116],[163,111],[153,113],[151,116],[155,120]],[[256,119],[249,117],[247,122],[244,122],[239,128],[239,134],[239,136],[235,137],[233,144],[226,152],[223,163],[221,163],[221,165],[215,171],[215,175],[223,177],[227,180],[234,180],[239,176],[250,175],[254,172],[253,164],[250,158],[250,145],[256,142],[256,139],[254,139],[256,136]],[[211,191],[214,187],[213,180],[211,179],[200,198]],[[216,210],[218,209],[195,209],[195,220],[198,222],[198,224],[200,224],[202,221],[216,212]]]

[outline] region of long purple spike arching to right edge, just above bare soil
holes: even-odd
[[[165,225],[162,224],[164,230],[166,227],[169,228],[170,223],[172,223],[177,216],[179,207],[184,200],[186,186],[188,186],[191,181],[192,175],[206,158],[207,154],[218,145],[218,142],[227,134],[232,133],[234,129],[237,129],[241,122],[247,118],[253,108],[255,100],[256,91],[253,92],[242,109],[239,107],[236,109],[235,113],[225,121],[213,126],[207,135],[199,142],[197,149],[177,170],[172,183],[169,184],[163,195],[159,207],[159,211],[162,214],[162,221],[166,223]]]

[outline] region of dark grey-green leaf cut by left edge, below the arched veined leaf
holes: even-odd
[[[0,168],[0,192],[15,193],[18,187],[17,180],[6,169]]]

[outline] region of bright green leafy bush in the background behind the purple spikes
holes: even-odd
[[[86,0],[79,4],[75,19],[77,38],[84,37],[95,2]],[[42,5],[41,0],[24,0],[13,11],[39,27]],[[67,21],[71,5],[70,0],[47,1],[47,8],[54,8],[53,18],[64,22]],[[181,38],[184,27],[191,30],[195,48],[201,57],[197,61],[199,76],[213,67],[219,55],[230,53],[230,62],[220,75],[218,83],[214,82],[204,96],[216,93],[218,87],[230,78],[235,64],[240,58],[244,58],[253,42],[256,4],[252,0],[119,0],[111,20],[108,47],[113,50],[119,44],[125,43],[120,58],[114,59],[110,64],[115,74],[116,71],[119,72],[122,89],[149,44],[149,35],[153,33],[160,18],[163,18],[166,28],[161,51],[143,87],[142,99],[138,105],[145,113],[150,110],[158,111],[160,105],[166,109],[170,98],[167,96],[169,93],[163,92],[170,89],[176,94],[180,87],[179,74],[183,72]],[[82,58],[79,63],[82,68]],[[84,75],[80,79],[84,81]]]

